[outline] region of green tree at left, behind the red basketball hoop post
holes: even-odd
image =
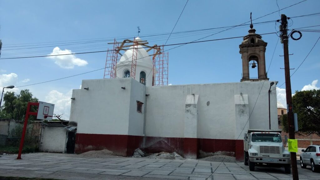
[[[0,118],[23,120],[27,111],[28,102],[39,102],[28,89],[21,90],[20,94],[15,95],[13,92],[4,94],[4,105],[1,109]],[[36,107],[31,106],[31,111],[36,111]],[[36,120],[35,116],[30,116],[30,120]]]

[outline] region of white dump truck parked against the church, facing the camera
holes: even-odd
[[[291,173],[290,152],[284,149],[281,130],[249,129],[244,134],[244,165],[250,171],[255,166],[284,167]]]

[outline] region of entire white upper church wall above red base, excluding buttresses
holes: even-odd
[[[84,87],[89,87],[89,90]],[[145,93],[145,86],[133,78],[83,80],[82,89],[74,91],[74,95],[79,96],[76,99],[79,102],[73,102],[74,112],[70,119],[76,117],[78,120],[77,133],[142,136],[145,116],[146,136],[184,137],[186,98],[190,94],[197,94],[201,99],[197,103],[197,138],[237,139],[247,128],[236,126],[245,124],[246,119],[242,118],[243,122],[236,123],[238,113],[235,113],[235,95],[242,93],[248,96],[246,113],[249,114],[246,115],[249,117],[252,113],[249,128],[267,129],[269,87],[270,81],[147,86]],[[145,94],[149,96],[145,97]],[[143,104],[146,114],[144,109],[142,113],[137,112],[136,101],[147,102]],[[276,104],[276,91],[272,91],[272,129],[278,127]]]

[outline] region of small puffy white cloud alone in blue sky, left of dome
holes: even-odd
[[[72,54],[71,50],[61,50],[59,47],[55,47],[49,55],[69,54],[60,56],[49,56],[48,58],[55,60],[54,63],[59,65],[61,68],[73,69],[76,66],[85,66],[88,64],[87,61],[77,58]]]

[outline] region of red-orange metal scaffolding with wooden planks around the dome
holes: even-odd
[[[149,52],[153,49],[152,63],[153,63],[153,77],[152,86],[166,86],[168,85],[168,65],[169,65],[169,53],[164,51],[164,46],[148,46],[147,41],[137,41],[126,39],[123,42],[117,42],[116,39],[113,43],[113,49],[107,52],[106,67],[104,78],[116,78],[116,66],[119,62],[122,54],[120,51],[127,51],[127,47],[132,49],[132,61],[131,61],[131,72],[130,77],[135,78],[137,57],[138,57],[138,45],[141,47],[148,48],[146,51]]]

